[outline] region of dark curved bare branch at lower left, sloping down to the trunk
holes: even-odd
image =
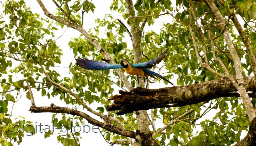
[[[74,110],[74,109],[54,106],[52,104],[50,107],[49,106],[48,107],[47,106],[40,106],[40,107],[31,106],[29,111],[31,111],[32,113],[67,113],[67,114],[76,115],[76,116],[86,119],[88,121],[88,123],[90,123],[92,125],[97,125],[100,128],[104,128],[104,129],[106,129],[110,132],[116,133],[118,135],[135,138],[135,132],[133,132],[133,131],[129,131],[129,130],[118,128],[118,127],[116,128],[116,126],[113,126],[113,125],[106,125],[98,120],[93,119],[88,114]]]

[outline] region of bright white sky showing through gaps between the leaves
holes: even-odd
[[[39,6],[39,4],[36,2],[36,0],[25,0],[26,4],[28,7],[31,8],[31,11],[34,13],[39,13],[40,17],[43,18],[47,18],[44,15],[44,12],[42,11],[41,7]],[[133,0],[134,1],[134,0]],[[55,4],[50,1],[50,0],[42,0],[42,2],[44,3],[44,5],[46,6],[46,8],[48,9],[48,11],[53,12],[56,9]],[[90,28],[95,27],[95,20],[97,18],[104,18],[105,14],[112,14],[113,18],[119,18],[121,20],[124,20],[121,16],[117,15],[117,13],[113,13],[109,10],[109,7],[112,3],[112,0],[101,0],[99,1],[92,1],[92,3],[95,5],[95,11],[94,13],[89,12],[88,14],[85,13],[84,15],[84,29],[86,31],[88,31]],[[135,1],[134,1],[135,3]],[[174,3],[175,5],[175,3]],[[1,10],[2,8],[0,8]],[[162,19],[161,19],[162,18]],[[48,18],[49,19],[49,18]],[[171,16],[160,16],[160,19],[157,19],[157,21],[155,21],[155,24],[153,26],[150,26],[150,28],[148,26],[145,27],[145,31],[150,31],[153,30],[156,33],[159,32],[159,29],[163,26],[163,23],[170,23],[172,22],[172,18]],[[128,27],[130,28],[130,27]],[[55,33],[55,37],[58,38],[64,31],[66,30],[66,27],[64,27],[62,30],[58,30]],[[105,33],[100,32],[99,33],[99,37],[102,38],[107,38],[107,36],[105,36]],[[61,73],[61,77],[72,77],[71,74],[69,74],[69,68],[64,68],[64,67],[68,67],[70,62],[75,62],[75,58],[73,55],[72,50],[70,49],[70,47],[68,46],[68,42],[71,40],[71,38],[75,38],[80,36],[80,33],[72,28],[68,28],[68,30],[62,35],[62,37],[60,37],[60,39],[56,40],[57,45],[60,46],[60,48],[63,50],[63,56],[61,57],[61,64],[58,66],[61,67],[55,67],[54,69],[58,72]],[[127,42],[128,47],[131,47],[131,40],[128,34],[126,34],[126,37],[124,39],[124,41]],[[104,47],[104,46],[103,46]],[[96,51],[96,50],[95,50]],[[164,72],[164,70],[162,71]],[[176,85],[176,78],[174,77],[174,79],[171,80],[171,82]],[[160,82],[160,83],[155,83],[155,84],[150,84],[150,88],[161,88],[161,87],[170,87],[171,84],[165,85],[164,82]],[[118,94],[118,90],[120,90],[119,87],[115,88],[114,93]],[[34,97],[35,97],[35,104],[36,106],[50,106],[51,103],[54,103],[56,106],[63,106],[66,107],[66,104],[64,102],[60,102],[58,97],[55,98],[50,98],[49,100],[46,97],[42,97],[41,96],[41,91],[36,91],[34,89],[32,89]],[[39,123],[42,123],[43,125],[50,125],[52,128],[52,113],[31,113],[29,110],[29,107],[31,106],[31,102],[30,100],[28,100],[26,98],[26,92],[21,92],[21,99],[19,100],[19,102],[15,103],[14,107],[13,107],[13,112],[12,112],[12,120],[14,120],[16,117],[19,117],[19,115],[24,116],[25,120],[29,120],[31,122],[34,123],[37,122],[37,125]],[[89,105],[92,109],[96,110],[96,108],[98,106],[100,106],[99,104],[91,104]],[[207,105],[206,105],[207,106]],[[12,105],[10,104],[8,106],[9,110],[12,108]],[[80,109],[81,111],[83,111],[83,109]],[[99,117],[94,116],[93,114],[87,112],[86,110],[84,111],[85,113],[89,114],[90,116],[92,116],[93,118],[100,120]],[[150,112],[148,112],[150,113]],[[207,119],[211,119],[213,116],[215,116],[216,111],[213,111],[210,113],[208,113],[208,115],[206,115],[203,119],[207,118]],[[86,120],[85,124],[90,125]],[[100,120],[102,121],[102,120]],[[196,123],[199,123],[201,120],[198,120]],[[161,128],[163,126],[162,124],[162,120],[156,120],[156,127],[157,128]],[[82,126],[82,125],[81,125]],[[44,126],[43,126],[44,128]],[[92,125],[91,125],[92,128]],[[58,136],[58,131],[57,129],[55,129],[53,135],[51,135],[50,137],[44,139],[44,132],[40,133],[39,131],[37,131],[36,135],[32,135],[32,136],[25,136],[22,139],[22,142],[20,143],[20,146],[28,146],[28,145],[38,145],[38,146],[45,146],[45,145],[62,145],[61,143],[57,143],[57,138],[56,136]],[[194,131],[193,131],[194,132]],[[82,140],[80,141],[81,145],[109,145],[108,143],[105,142],[105,140],[103,139],[102,135],[98,132],[98,133],[93,133],[92,129],[91,132],[89,133],[80,133],[81,136],[83,137]],[[24,135],[26,135],[26,133],[24,133]],[[244,135],[246,135],[246,133],[244,133]],[[242,138],[242,137],[241,137]],[[14,145],[17,145],[17,142],[14,143]]]

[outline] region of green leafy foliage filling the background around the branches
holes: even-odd
[[[60,9],[55,11],[55,15],[59,18],[74,20],[77,24],[82,25],[86,15],[84,12],[94,12],[95,5],[88,0],[57,0],[64,11],[68,13],[68,17],[63,14]],[[159,2],[159,3],[158,3]],[[159,14],[170,12],[174,19],[172,23],[163,24],[158,32],[145,29],[141,40],[141,50],[143,52],[143,61],[147,62],[158,56],[162,50],[169,48],[169,56],[164,60],[163,68],[167,79],[177,77],[177,85],[196,84],[219,78],[211,71],[200,66],[196,58],[196,52],[189,33],[189,17],[190,1],[177,0],[176,4],[170,0],[137,0],[134,4],[137,16],[146,16],[148,11],[152,17],[147,17],[147,25],[152,26],[155,21],[161,19]],[[95,2],[96,3],[96,2]],[[236,51],[242,60],[244,75],[250,75],[252,68],[250,66],[249,56],[246,54],[244,44],[241,37],[234,30],[232,21],[229,20],[229,11],[235,11],[240,15],[244,22],[244,31],[251,41],[252,51],[256,54],[256,3],[251,0],[227,0],[222,6],[215,2],[218,9],[225,16],[227,27],[233,38]],[[90,71],[80,68],[74,63],[69,64],[69,72],[72,78],[63,77],[61,72],[55,70],[54,66],[60,64],[60,57],[63,55],[59,44],[55,42],[55,30],[63,28],[63,24],[49,19],[44,19],[36,12],[32,12],[23,0],[3,2],[4,11],[1,12],[0,18],[0,82],[2,100],[0,100],[0,143],[4,146],[13,145],[12,142],[20,144],[24,133],[13,132],[12,127],[16,124],[31,124],[30,121],[13,120],[11,117],[12,110],[8,109],[9,104],[19,102],[20,92],[26,93],[30,99],[28,89],[24,84],[27,80],[31,87],[41,92],[44,98],[59,98],[61,102],[67,105],[73,105],[74,109],[81,107],[79,103],[70,93],[65,92],[56,86],[52,86],[45,77],[42,64],[47,70],[48,75],[53,82],[60,84],[70,91],[75,92],[80,99],[89,105],[93,102],[100,103],[101,106],[95,109],[99,113],[108,113],[106,106],[110,104],[107,99],[113,96],[113,91],[117,90],[117,86],[125,90],[124,84],[118,79],[117,74],[112,70]],[[201,24],[204,36],[208,33],[214,38],[216,48],[216,57],[219,57],[227,67],[231,75],[235,74],[234,62],[231,59],[227,44],[224,42],[221,27],[216,26],[216,21],[205,3],[193,2],[193,11],[196,17],[200,17],[198,22]],[[123,0],[116,1],[110,6],[110,10],[117,12],[123,16],[128,24],[141,24],[145,17],[133,18],[127,13],[127,8]],[[83,15],[82,15],[83,14]],[[203,17],[202,17],[203,16]],[[164,18],[172,19],[170,15]],[[124,39],[127,35],[124,26],[115,20],[111,14],[106,14],[104,18],[98,18],[95,21],[95,27],[89,31],[90,35],[101,45],[104,46],[108,54],[119,63],[120,58],[126,58],[133,61],[133,51],[131,46]],[[251,26],[252,24],[252,26]],[[197,39],[198,52],[201,54],[202,60],[205,62],[203,55],[203,42],[195,25],[192,26]],[[104,29],[104,32],[102,32]],[[100,38],[99,33],[105,33],[106,37]],[[207,39],[207,38],[206,38]],[[213,59],[213,52],[210,41],[204,41],[207,51],[207,58],[210,67],[221,74],[225,74],[220,63]],[[95,47],[86,40],[84,36],[71,38],[68,43],[73,51],[73,58],[82,57],[100,61],[103,56],[96,51]],[[161,68],[161,67],[158,67]],[[159,70],[154,68],[155,70]],[[13,75],[19,75],[14,80]],[[127,76],[135,87],[135,77]],[[149,81],[149,79],[147,79]],[[167,83],[165,83],[167,84]],[[207,104],[198,103],[190,106],[160,108],[154,109],[154,120],[161,120],[162,126],[173,122],[165,129],[164,133],[154,135],[156,141],[161,145],[232,145],[239,142],[241,132],[248,131],[249,121],[245,112],[243,103],[240,98],[224,97],[215,99]],[[255,99],[253,99],[255,100]],[[15,105],[14,105],[15,106]],[[194,110],[192,113],[183,117],[183,119],[174,120],[181,114]],[[209,111],[214,111],[211,119],[201,119],[205,114],[211,115]],[[213,112],[213,113],[214,113]],[[117,116],[115,112],[110,112],[112,117],[117,118],[124,124],[124,128],[135,131],[138,123],[134,113],[128,113],[124,116]],[[199,120],[198,120],[199,119]],[[77,116],[69,116],[61,114],[61,119],[57,114],[52,115],[52,122],[55,127],[61,128],[62,125],[70,125],[70,120],[74,123],[82,123],[83,119]],[[200,121],[200,122],[199,122]],[[117,123],[115,123],[117,124]],[[198,124],[198,125],[196,125]],[[21,129],[23,129],[21,126]],[[157,127],[160,129],[159,127]],[[25,128],[24,128],[25,129]],[[156,129],[156,130],[158,130]],[[25,129],[29,132],[30,129]],[[32,133],[35,134],[35,133]],[[45,138],[51,136],[52,133],[45,133]],[[126,137],[116,134],[104,135],[107,141],[115,139],[124,139]],[[73,135],[57,137],[57,140],[63,145],[79,145],[81,140],[79,133]],[[9,140],[8,140],[9,139]],[[10,142],[11,141],[11,142]]]

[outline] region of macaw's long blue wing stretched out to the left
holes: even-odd
[[[121,68],[123,68],[120,64],[110,64],[110,63],[105,63],[105,62],[89,60],[86,58],[84,58],[84,59],[78,58],[78,59],[76,59],[76,62],[82,68],[89,69],[89,70],[121,69]]]

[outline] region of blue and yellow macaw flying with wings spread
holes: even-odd
[[[142,77],[145,76],[150,76],[155,79],[163,79],[164,81],[172,84],[170,81],[168,81],[166,78],[163,76],[148,70],[147,68],[152,68],[154,65],[157,63],[161,62],[168,49],[164,51],[164,53],[155,59],[149,61],[149,62],[143,62],[143,63],[138,63],[138,64],[131,64],[128,62],[126,59],[120,59],[120,64],[110,64],[110,63],[105,63],[105,62],[99,62],[99,61],[93,61],[89,59],[82,59],[78,58],[76,59],[76,62],[79,66],[81,66],[84,69],[89,69],[89,70],[100,70],[100,69],[124,69],[127,74],[130,75],[136,75],[139,77],[141,75]],[[102,59],[104,61],[107,61],[105,59]],[[173,85],[173,84],[172,84]]]

